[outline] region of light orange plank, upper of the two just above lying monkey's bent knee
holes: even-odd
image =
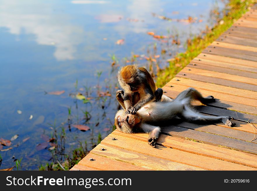
[[[179,81],[177,81],[177,80],[179,80]],[[240,96],[241,97],[241,98],[239,98],[240,100],[243,99],[242,97],[251,98],[251,99],[255,99],[255,100],[257,99],[256,91],[249,91],[249,90],[237,89],[237,88],[232,88],[232,87],[222,86],[222,85],[217,85],[217,84],[210,84],[210,83],[186,79],[186,78],[176,77],[176,79],[171,80],[170,83],[183,85],[183,86],[188,86],[189,84],[190,85],[192,84],[192,87],[194,87],[196,89],[201,88],[201,89],[214,91],[214,92],[220,92],[220,93],[224,93],[224,94],[228,94],[228,95]],[[257,104],[257,102],[256,102],[256,104]]]

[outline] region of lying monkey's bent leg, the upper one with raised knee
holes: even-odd
[[[207,97],[203,97],[202,94],[197,91],[195,88],[187,88],[186,90],[182,91],[175,100],[183,100],[185,98],[189,98],[190,100],[195,99],[199,100],[200,102],[207,104],[215,102],[216,100],[213,98],[213,96],[209,95]],[[189,100],[189,101],[190,101]]]

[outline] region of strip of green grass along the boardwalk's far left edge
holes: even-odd
[[[177,54],[176,57],[169,62],[168,67],[158,72],[156,86],[163,87],[167,82],[174,78],[180,70],[199,55],[204,48],[209,46],[223,32],[231,27],[234,20],[238,20],[244,13],[246,13],[246,11],[248,11],[248,7],[253,6],[256,2],[256,0],[230,0],[226,5],[228,13],[222,18],[224,21],[223,24],[217,24],[212,29],[207,30],[204,36],[199,35],[194,37],[184,53]]]

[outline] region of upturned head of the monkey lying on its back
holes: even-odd
[[[133,133],[133,128],[140,122],[140,117],[136,115],[126,114],[124,110],[117,111],[114,118],[114,125],[119,131],[124,133]]]

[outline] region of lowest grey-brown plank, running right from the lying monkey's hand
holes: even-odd
[[[163,127],[162,132],[178,138],[185,138],[188,140],[192,139],[210,145],[222,146],[233,150],[257,154],[256,144],[243,140],[232,139],[173,125]]]

